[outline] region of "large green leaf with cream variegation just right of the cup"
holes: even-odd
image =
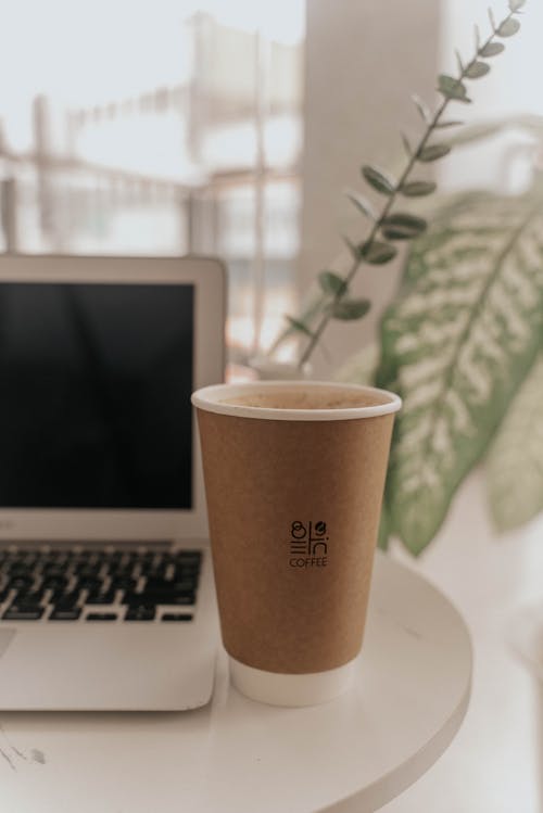
[[[433,538],[539,353],[540,211],[531,196],[466,195],[413,243],[382,319],[377,385],[403,397],[386,498],[414,554]]]

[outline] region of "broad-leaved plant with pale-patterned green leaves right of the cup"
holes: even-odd
[[[543,149],[543,119],[467,128],[466,143],[505,129]],[[526,148],[522,148],[526,149]],[[438,200],[415,240],[379,345],[342,380],[397,391],[380,545],[413,552],[433,538],[455,492],[482,462],[498,531],[543,510],[543,178],[516,196],[467,192]]]

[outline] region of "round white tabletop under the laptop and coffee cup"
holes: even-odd
[[[346,695],[303,709],[253,702],[230,687],[222,652],[204,709],[3,712],[1,808],[365,813],[443,753],[470,682],[471,644],[458,612],[425,579],[378,555],[357,681]]]

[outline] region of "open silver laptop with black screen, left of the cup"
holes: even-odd
[[[210,700],[190,394],[224,323],[216,259],[0,257],[0,709]]]

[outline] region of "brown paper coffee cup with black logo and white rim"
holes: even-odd
[[[350,685],[361,650],[393,393],[258,381],[192,396],[223,641],[235,685],[305,706]]]

